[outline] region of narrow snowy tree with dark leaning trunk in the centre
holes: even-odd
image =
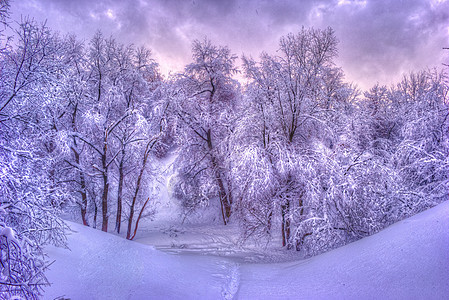
[[[232,213],[233,197],[226,157],[233,130],[238,84],[236,56],[209,40],[195,41],[193,63],[176,80],[172,111],[177,118],[177,196],[194,209],[218,198],[224,224]]]

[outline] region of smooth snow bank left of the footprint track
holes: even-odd
[[[231,299],[235,263],[175,256],[76,223],[71,251],[48,247],[54,264],[44,299]],[[234,276],[234,277],[233,277]]]

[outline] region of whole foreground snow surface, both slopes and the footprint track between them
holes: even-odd
[[[448,299],[449,202],[310,259],[251,264],[163,253],[69,223],[44,299]]]

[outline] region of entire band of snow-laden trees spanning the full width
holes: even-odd
[[[174,153],[180,218],[213,208],[243,240],[305,256],[448,200],[447,68],[361,91],[335,64],[332,28],[303,27],[241,66],[228,47],[194,41],[192,62],[163,77],[147,48],[16,23],[8,7],[0,0],[2,293],[39,297],[44,245],[66,246],[61,216],[133,239],[155,213],[156,162]]]

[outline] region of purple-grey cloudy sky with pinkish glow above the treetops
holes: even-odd
[[[165,74],[190,62],[195,39],[257,58],[302,26],[335,30],[337,64],[364,89],[449,62],[449,0],[11,0],[11,13],[86,41],[100,29],[146,45]]]

